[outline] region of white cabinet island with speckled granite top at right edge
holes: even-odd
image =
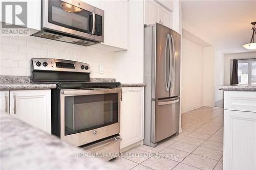
[[[224,90],[223,169],[256,169],[256,86]]]

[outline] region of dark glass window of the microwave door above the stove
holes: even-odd
[[[91,33],[92,17],[90,11],[62,1],[49,1],[48,21],[55,25],[84,33]]]

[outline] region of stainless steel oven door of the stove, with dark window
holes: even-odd
[[[60,138],[80,146],[120,133],[121,88],[60,90]]]

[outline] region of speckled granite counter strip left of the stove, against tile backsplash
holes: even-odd
[[[0,90],[38,90],[56,88],[56,84],[5,84],[0,83]]]

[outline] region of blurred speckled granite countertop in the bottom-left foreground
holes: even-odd
[[[0,169],[119,169],[99,158],[86,157],[54,135],[0,113]],[[79,156],[80,155],[80,156]]]

